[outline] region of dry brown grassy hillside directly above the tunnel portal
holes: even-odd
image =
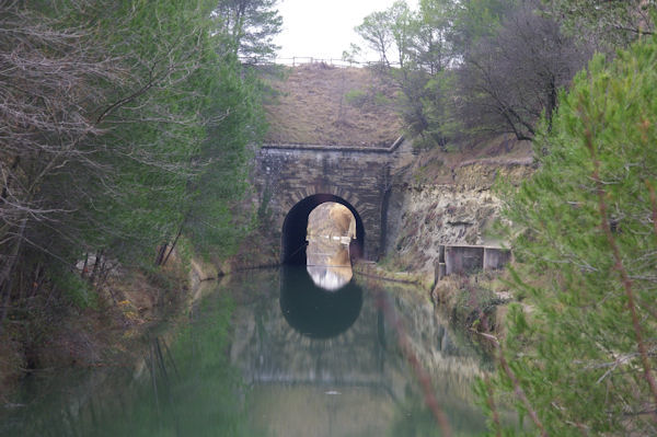
[[[369,69],[309,64],[272,79],[268,143],[389,147],[402,133],[395,90]]]

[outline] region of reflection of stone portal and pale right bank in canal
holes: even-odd
[[[377,304],[387,291],[358,277],[337,291],[322,290],[306,268],[281,275],[279,306],[263,295],[235,319],[231,360],[252,388],[253,423],[286,437],[435,435],[394,323]],[[401,290],[389,299],[457,434],[483,432],[471,392],[479,356],[422,298]]]

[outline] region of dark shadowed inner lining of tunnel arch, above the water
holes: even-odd
[[[290,209],[283,222],[281,253],[283,264],[306,265],[306,232],[308,216],[325,202],[335,202],[349,208],[356,219],[356,240],[351,241],[351,256],[362,256],[365,253],[365,227],[358,211],[344,198],[334,194],[314,194],[300,200]]]

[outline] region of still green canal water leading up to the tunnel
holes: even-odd
[[[420,290],[312,267],[205,283],[137,367],[31,378],[0,435],[439,435],[410,354],[453,434],[485,429],[472,383],[488,363]]]

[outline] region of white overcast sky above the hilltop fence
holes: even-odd
[[[280,0],[283,32],[275,43],[281,46],[278,58],[314,57],[341,59],[350,43],[364,50],[365,43],[354,32],[362,19],[392,5],[394,0]],[[417,0],[406,1],[416,9]],[[367,60],[378,60],[373,54]]]

